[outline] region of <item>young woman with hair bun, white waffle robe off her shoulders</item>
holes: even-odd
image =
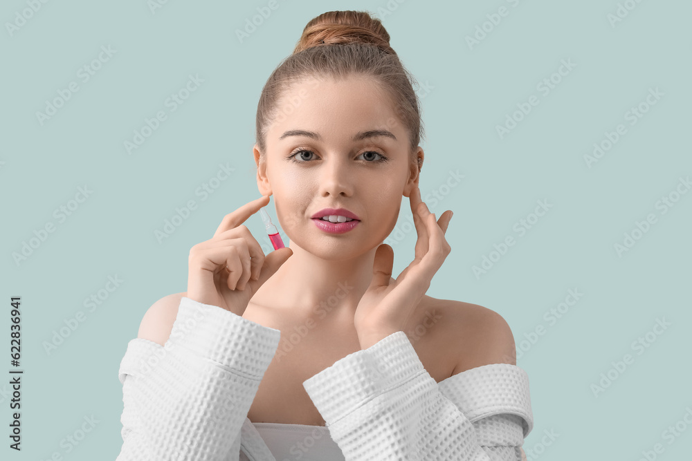
[[[365,12],[309,21],[257,109],[262,198],[190,251],[120,366],[118,460],[521,460],[528,377],[492,310],[428,297],[452,213],[421,200],[414,81]],[[274,197],[289,247],[244,221]],[[415,258],[384,239],[406,197]]]

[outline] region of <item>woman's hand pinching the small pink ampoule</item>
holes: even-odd
[[[212,238],[192,247],[188,298],[242,316],[257,290],[293,254],[285,247],[264,256],[253,234],[242,225],[268,203],[268,196],[246,203],[224,216]]]

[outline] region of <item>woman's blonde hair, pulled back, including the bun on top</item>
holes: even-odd
[[[372,78],[390,95],[397,115],[410,140],[410,156],[415,152],[424,127],[421,104],[413,89],[415,77],[401,64],[390,46],[390,35],[379,19],[363,11],[329,11],[305,26],[293,54],[271,73],[257,104],[255,142],[264,162],[266,133],[277,115],[277,102],[289,86],[310,77],[331,77],[336,81],[349,75]]]

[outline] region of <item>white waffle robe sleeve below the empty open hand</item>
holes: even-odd
[[[489,364],[438,384],[403,331],[303,387],[347,461],[521,461],[534,424],[525,370]]]

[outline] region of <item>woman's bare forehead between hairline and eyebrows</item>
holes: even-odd
[[[278,100],[268,138],[276,142],[291,129],[317,131],[335,141],[373,129],[392,131],[399,141],[406,138],[392,98],[367,77],[306,77],[291,84]]]

